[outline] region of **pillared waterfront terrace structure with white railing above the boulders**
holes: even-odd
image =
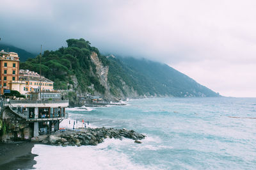
[[[1,105],[29,123],[32,137],[59,130],[60,122],[68,118],[68,100],[9,100]],[[4,119],[6,111],[1,114]]]

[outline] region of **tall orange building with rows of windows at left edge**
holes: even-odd
[[[15,52],[0,51],[0,92],[10,89],[10,82],[19,81],[19,56]]]

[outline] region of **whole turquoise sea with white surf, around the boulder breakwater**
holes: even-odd
[[[67,109],[61,127],[126,128],[147,137],[97,146],[35,144],[36,169],[256,169],[256,98],[144,98]],[[76,123],[77,121],[77,123]],[[88,125],[89,123],[89,125]]]

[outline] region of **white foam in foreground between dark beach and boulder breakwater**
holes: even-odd
[[[36,169],[151,169],[132,162],[124,153],[108,146],[133,144],[130,139],[123,141],[106,139],[98,146],[49,146],[35,144],[32,149]],[[154,169],[154,168],[152,168]]]

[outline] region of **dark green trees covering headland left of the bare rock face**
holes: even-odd
[[[105,88],[95,76],[95,65],[90,55],[96,52],[103,65],[108,65],[108,59],[101,56],[99,50],[90,46],[90,42],[83,38],[79,40],[67,40],[68,47],[61,47],[55,51],[45,50],[41,58],[42,75],[54,81],[55,89],[70,89],[74,87],[81,91],[90,91],[88,86],[94,85],[95,90],[104,93]],[[20,63],[20,69],[35,70],[40,73],[40,56],[29,58],[26,62]],[[74,77],[77,79],[77,86],[74,85]]]

